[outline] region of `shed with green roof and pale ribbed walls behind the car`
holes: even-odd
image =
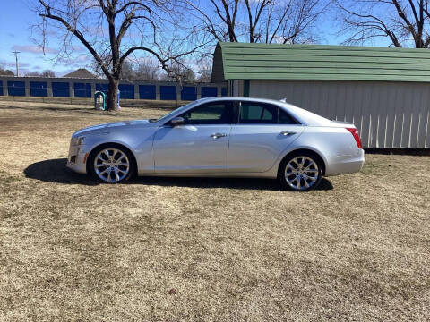
[[[355,123],[366,148],[430,148],[430,50],[219,43],[228,96],[285,98]]]

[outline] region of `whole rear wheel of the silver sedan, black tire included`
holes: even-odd
[[[280,185],[289,191],[310,191],[323,178],[323,165],[311,152],[297,152],[286,157],[280,165]]]

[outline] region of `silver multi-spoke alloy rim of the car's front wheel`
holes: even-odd
[[[130,171],[130,160],[117,148],[105,148],[94,159],[94,171],[104,182],[120,182]]]

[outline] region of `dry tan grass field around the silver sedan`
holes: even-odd
[[[430,157],[308,193],[65,170],[73,131],[164,113],[0,102],[0,321],[430,319]]]

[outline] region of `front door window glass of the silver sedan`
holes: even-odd
[[[229,102],[214,102],[194,107],[180,116],[185,124],[230,124],[231,115]]]

